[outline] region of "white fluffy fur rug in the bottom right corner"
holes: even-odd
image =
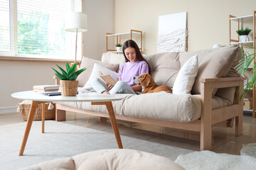
[[[255,170],[256,158],[210,151],[179,155],[175,161],[186,170]]]

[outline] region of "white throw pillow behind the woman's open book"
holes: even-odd
[[[103,75],[105,74],[110,74],[110,77],[112,77],[112,79],[114,79],[114,81],[118,80],[118,73],[117,72],[113,72],[110,69],[107,69],[106,67],[101,66],[100,64],[95,63],[92,69],[92,74],[90,74],[90,78],[88,79],[88,81],[85,83],[85,86],[83,86],[83,89],[86,90],[92,90],[92,85],[91,85],[91,81],[94,78],[100,78],[100,74],[99,71],[102,72]],[[103,79],[100,78],[102,81]]]

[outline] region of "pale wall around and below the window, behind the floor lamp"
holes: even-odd
[[[86,0],[85,13],[88,16],[85,56],[100,60],[105,52],[105,33],[114,31],[114,0]],[[19,103],[11,98],[12,93],[32,90],[36,84],[54,84],[51,67],[55,63],[0,61],[0,112],[1,108]]]

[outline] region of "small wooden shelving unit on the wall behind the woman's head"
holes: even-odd
[[[140,43],[137,42],[139,50],[142,52],[142,31],[141,30],[130,30],[129,33],[107,33],[106,34],[106,52],[122,52],[109,48],[109,38],[116,38],[115,44],[121,44],[121,40],[134,40],[135,37],[139,36]],[[135,40],[134,40],[135,41]],[[136,41],[135,41],[136,42]]]

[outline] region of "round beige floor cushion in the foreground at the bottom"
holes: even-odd
[[[23,170],[48,169],[177,169],[183,170],[171,159],[132,149],[103,149],[78,154],[72,158],[55,159]]]

